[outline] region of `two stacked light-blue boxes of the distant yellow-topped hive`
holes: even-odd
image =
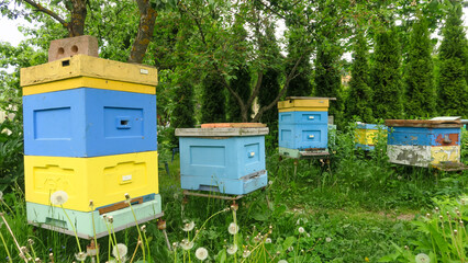
[[[324,149],[328,141],[328,112],[279,113],[279,147]]]

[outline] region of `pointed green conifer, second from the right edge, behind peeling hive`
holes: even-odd
[[[405,114],[406,116],[434,116],[436,93],[432,43],[426,20],[421,16],[410,36],[408,64],[405,67]]]

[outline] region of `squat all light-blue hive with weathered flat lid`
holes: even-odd
[[[176,129],[181,187],[243,195],[266,186],[266,134],[268,128],[256,124]]]

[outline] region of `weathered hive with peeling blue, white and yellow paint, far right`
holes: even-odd
[[[461,123],[457,117],[387,119],[390,162],[441,167],[460,162]]]

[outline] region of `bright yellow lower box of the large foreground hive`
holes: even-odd
[[[26,202],[51,205],[49,196],[65,191],[64,208],[89,211],[94,207],[158,193],[157,151],[93,158],[24,157]]]

